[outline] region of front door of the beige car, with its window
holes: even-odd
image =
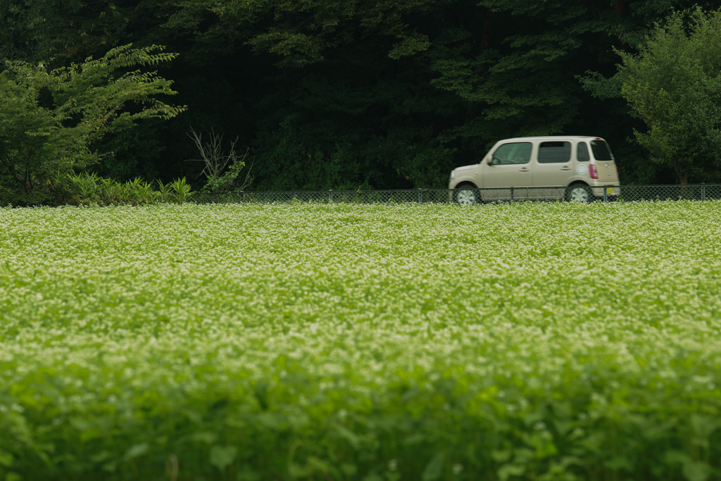
[[[528,198],[525,188],[533,185],[531,172],[531,142],[510,142],[498,146],[490,163],[484,162],[482,171],[483,200]],[[514,187],[511,189],[510,187]],[[492,190],[485,190],[492,189]]]

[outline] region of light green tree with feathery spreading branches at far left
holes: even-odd
[[[172,81],[139,66],[176,54],[160,46],[113,48],[98,59],[49,70],[7,62],[0,74],[0,187],[21,202],[42,200],[55,181],[97,163],[102,138],[138,120],[169,119],[185,110],[163,102]]]

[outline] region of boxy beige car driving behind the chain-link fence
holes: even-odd
[[[619,195],[619,172],[601,137],[518,137],[498,141],[479,164],[451,172],[459,204],[495,200],[589,202]]]

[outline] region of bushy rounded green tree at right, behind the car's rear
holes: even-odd
[[[676,12],[637,55],[620,53],[621,92],[647,131],[634,131],[651,160],[681,184],[721,178],[721,10]]]

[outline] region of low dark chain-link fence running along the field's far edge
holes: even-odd
[[[721,199],[721,184],[617,187],[504,187],[492,189],[298,190],[195,193],[198,203],[488,203],[522,201],[636,202]]]

